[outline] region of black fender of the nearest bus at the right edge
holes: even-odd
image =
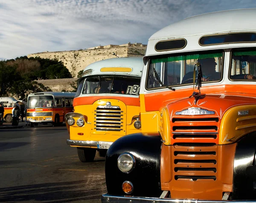
[[[232,200],[256,199],[255,152],[256,132],[248,133],[237,142]]]

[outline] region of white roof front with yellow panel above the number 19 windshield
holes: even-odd
[[[102,61],[96,61],[88,65],[84,69],[83,76],[131,75],[131,76],[141,77],[142,69],[143,69],[143,57],[109,58]],[[85,74],[86,72],[87,74]]]

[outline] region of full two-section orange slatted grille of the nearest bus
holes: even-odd
[[[215,181],[218,178],[216,117],[172,118],[174,177],[176,181]],[[195,142],[198,140],[198,142]],[[200,140],[200,141],[199,141]]]

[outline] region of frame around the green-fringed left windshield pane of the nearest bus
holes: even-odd
[[[148,88],[148,79],[149,79],[149,69],[151,65],[151,60],[152,59],[160,59],[160,58],[167,58],[167,57],[175,57],[175,56],[180,56],[180,55],[196,55],[196,54],[216,54],[216,53],[222,53],[222,59],[221,59],[221,78],[219,80],[214,80],[214,81],[202,81],[202,84],[209,84],[209,83],[217,83],[222,81],[223,79],[223,74],[224,74],[224,58],[225,58],[225,51],[224,49],[214,49],[214,50],[203,50],[203,51],[193,51],[193,52],[178,52],[178,53],[169,53],[169,54],[161,54],[161,55],[153,55],[149,56],[148,58],[148,65],[147,65],[147,74],[146,74],[146,80],[145,80],[145,90],[152,91],[152,90],[169,90],[167,87],[153,87],[153,88]],[[160,75],[159,75],[160,76]],[[197,75],[196,75],[197,78]],[[187,83],[187,84],[175,84],[175,85],[167,85],[168,87],[176,88],[176,87],[186,87],[186,86],[191,86],[193,83]]]

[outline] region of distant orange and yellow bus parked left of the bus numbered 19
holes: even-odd
[[[28,96],[26,122],[30,127],[38,123],[52,123],[58,126],[64,122],[66,113],[73,111],[73,99],[76,93],[40,92]]]

